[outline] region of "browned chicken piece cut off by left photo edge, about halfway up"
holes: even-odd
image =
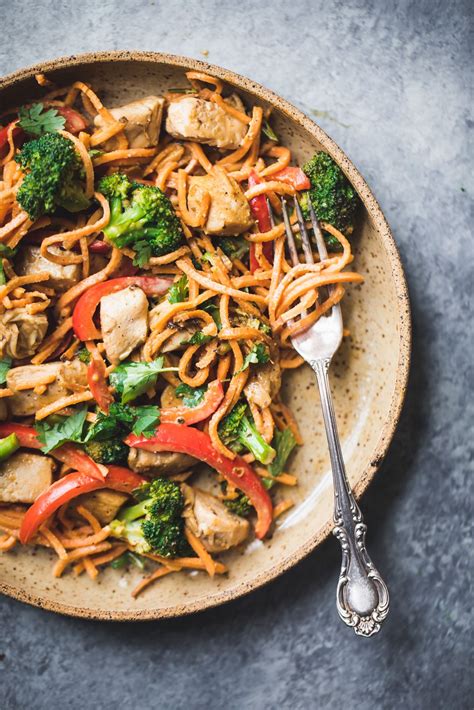
[[[0,358],[23,360],[38,350],[48,330],[45,313],[11,308],[0,316]]]

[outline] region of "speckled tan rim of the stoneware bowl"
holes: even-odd
[[[191,59],[189,57],[174,54],[162,54],[160,52],[121,50],[71,55],[46,62],[40,62],[2,77],[0,79],[0,94],[7,87],[21,83],[24,79],[29,79],[39,72],[48,73],[53,70],[61,68],[68,69],[75,66],[86,67],[88,64],[94,64],[97,62],[106,63],[124,61],[136,62],[137,64],[141,64],[142,62],[154,62],[157,64],[168,64],[174,67],[183,67],[188,70],[194,69],[197,71],[208,72],[216,77],[219,77],[220,79],[223,79],[224,81],[231,82],[244,91],[248,91],[258,99],[267,101],[279,109],[290,120],[296,122],[307,130],[308,133],[314,136],[314,138],[319,141],[324,149],[343,168],[349,180],[359,193],[364,206],[373,221],[375,229],[380,234],[387,251],[392,279],[397,295],[399,323],[399,357],[394,394],[390,404],[388,416],[386,417],[382,427],[377,445],[369,457],[367,467],[362,473],[354,489],[355,495],[360,497],[369,485],[370,481],[373,479],[378,466],[387,453],[395,432],[407,388],[411,352],[411,315],[408,288],[395,240],[377,200],[360,172],[351,163],[341,148],[339,148],[339,146],[322,130],[322,128],[305,116],[302,111],[295,108],[295,106],[275,94],[273,91],[264,88],[247,77],[197,59]],[[312,552],[312,550],[321,544],[321,542],[323,542],[323,540],[329,535],[332,527],[332,522],[328,522],[325,526],[320,528],[313,537],[301,544],[300,547],[297,548],[297,550],[295,550],[290,556],[275,564],[265,573],[256,575],[251,582],[242,582],[241,584],[235,586],[232,590],[218,592],[214,595],[211,594],[206,599],[190,602],[185,605],[177,605],[165,610],[146,609],[137,610],[136,612],[113,610],[103,611],[80,606],[69,606],[67,604],[54,602],[50,599],[45,600],[40,595],[29,594],[26,591],[12,587],[4,582],[0,582],[0,592],[33,606],[38,606],[60,614],[66,614],[68,616],[77,616],[87,619],[109,621],[144,621],[149,619],[183,616],[185,614],[202,611],[204,609],[223,604],[224,602],[231,601],[232,599],[248,594],[254,589],[267,584]]]

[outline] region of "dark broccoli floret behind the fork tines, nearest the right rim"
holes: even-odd
[[[355,212],[360,200],[341,168],[330,155],[319,151],[303,165],[303,170],[311,181],[311,188],[301,198],[305,219],[310,216],[311,198],[316,217],[349,236],[354,229]],[[330,234],[324,236],[331,249],[341,249],[335,237]]]

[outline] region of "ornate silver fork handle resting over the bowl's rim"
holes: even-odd
[[[365,548],[367,526],[347,480],[329,386],[330,358],[314,360],[334,483],[334,535],[342,548],[337,610],[356,634],[372,636],[388,614],[388,589]]]

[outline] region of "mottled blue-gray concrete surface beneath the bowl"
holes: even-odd
[[[335,616],[333,540],[268,588],[182,620],[90,623],[2,599],[2,707],[473,707],[472,8],[0,0],[2,74],[99,48],[209,50],[314,116],[393,227],[415,334],[400,427],[363,501],[393,598],[379,637]]]

